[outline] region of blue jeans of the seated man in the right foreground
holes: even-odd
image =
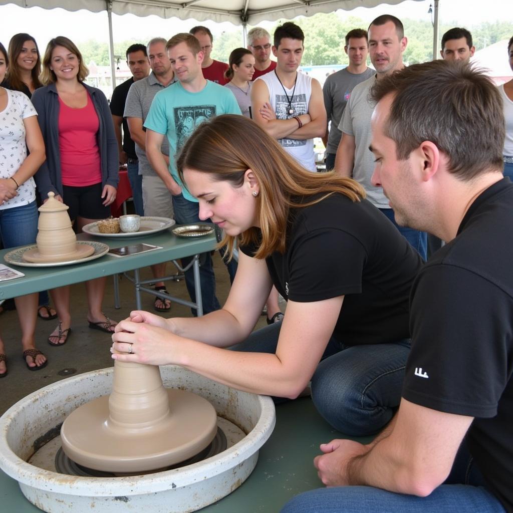
[[[396,494],[372,486],[319,488],[291,499],[281,513],[505,513],[486,488],[462,443],[445,483],[427,497]]]

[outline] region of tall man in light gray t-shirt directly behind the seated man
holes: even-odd
[[[352,90],[339,124],[342,139],[337,150],[334,169],[341,175],[351,176],[359,182],[367,192],[368,200],[396,225],[406,240],[425,260],[426,233],[399,226],[394,219],[394,212],[383,189],[374,187],[371,183],[374,168],[379,167],[381,161],[374,160],[374,156],[369,150],[370,119],[374,104],[369,101],[368,93],[375,81],[404,67],[403,52],[408,41],[404,37],[404,28],[400,19],[389,14],[383,14],[374,19],[369,25],[368,38],[370,62],[376,68],[376,76],[368,78]]]

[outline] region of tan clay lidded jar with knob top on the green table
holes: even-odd
[[[37,222],[37,251],[48,260],[61,260],[76,253],[76,235],[71,226],[68,206],[48,193],[48,200],[39,207]]]

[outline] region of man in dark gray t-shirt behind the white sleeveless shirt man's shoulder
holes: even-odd
[[[328,119],[329,135],[322,138],[326,147],[326,170],[333,169],[335,155],[339,147],[342,132],[339,130],[339,123],[342,119],[345,106],[354,86],[367,80],[374,73],[374,70],[367,67],[367,54],[369,52],[367,42],[367,31],[353,29],[346,34],[346,46],[344,51],[349,57],[349,66],[326,78],[323,87],[324,107]],[[329,127],[331,122],[331,127]]]

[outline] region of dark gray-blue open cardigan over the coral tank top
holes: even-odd
[[[100,148],[102,188],[105,185],[112,185],[117,188],[117,183],[119,182],[119,156],[117,154],[117,141],[107,98],[100,89],[86,84],[82,85],[91,95],[94,109],[100,121],[96,142],[98,148]],[[34,91],[31,101],[37,111],[37,121],[43,132],[46,147],[46,161],[34,175],[41,198],[45,200],[50,191],[61,196],[63,195],[58,130],[59,99],[55,84],[50,84]]]

